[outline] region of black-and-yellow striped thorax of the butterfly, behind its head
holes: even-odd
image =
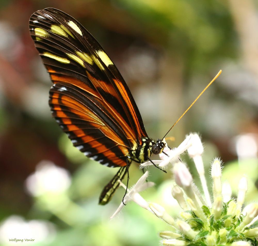
[[[155,145],[154,140],[147,137],[142,138],[142,144],[132,148],[130,153],[131,159],[140,163],[148,161],[152,155],[151,148],[153,145]]]

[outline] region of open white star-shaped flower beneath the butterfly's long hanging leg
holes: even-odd
[[[144,200],[143,197],[139,194],[139,192],[144,191],[147,188],[155,185],[154,182],[145,182],[148,177],[148,174],[149,172],[146,171],[141,176],[141,178],[136,182],[136,184],[128,191],[128,193],[124,197],[124,200],[121,202],[118,209],[114,212],[114,214],[110,217],[110,219],[114,218],[123,209],[123,207],[125,206],[124,204],[127,204],[128,202],[131,202],[131,201],[134,201],[142,208],[150,210],[148,202]]]

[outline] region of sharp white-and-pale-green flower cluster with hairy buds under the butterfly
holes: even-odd
[[[187,150],[198,171],[201,189],[196,187],[186,164],[180,159],[180,154]],[[182,212],[178,219],[171,217],[159,204],[145,201],[140,191],[153,186],[152,182],[144,182],[148,171],[130,189],[125,197],[125,203],[134,201],[141,207],[151,211],[158,218],[170,225],[170,231],[160,232],[162,245],[175,246],[251,246],[257,245],[258,203],[248,204],[242,209],[247,191],[247,179],[243,176],[239,181],[237,199],[231,198],[231,188],[228,183],[222,184],[221,161],[215,158],[211,165],[213,180],[212,196],[209,194],[205,179],[205,170],[201,154],[203,146],[198,134],[190,134],[178,148],[166,147],[160,154],[159,161],[154,161],[159,167],[172,165],[176,185],[172,187],[172,196],[176,199]],[[142,166],[151,165],[150,162]],[[201,195],[203,193],[203,196]],[[120,204],[113,218],[122,209]]]

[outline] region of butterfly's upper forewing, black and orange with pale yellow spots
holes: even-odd
[[[147,134],[131,92],[92,35],[74,18],[52,8],[35,12],[30,30],[52,81],[90,89],[119,121],[128,139],[141,144]]]

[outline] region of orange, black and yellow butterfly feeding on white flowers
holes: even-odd
[[[120,168],[100,195],[99,203],[106,204],[131,162],[149,161],[163,151],[165,141],[148,137],[123,77],[77,20],[46,8],[31,15],[29,30],[53,82],[49,92],[53,117],[87,157]]]

